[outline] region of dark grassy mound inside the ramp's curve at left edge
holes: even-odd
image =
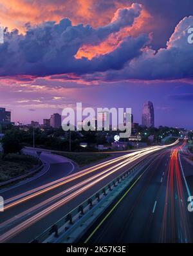
[[[33,156],[9,154],[2,159],[0,155],[0,182],[24,175],[36,165],[37,159]]]

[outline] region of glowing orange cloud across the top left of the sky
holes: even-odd
[[[17,28],[24,32],[24,25],[28,22],[37,25],[50,20],[59,22],[68,17],[73,25],[83,23],[99,27],[109,23],[116,8],[122,6],[115,0],[115,5],[109,5],[102,11],[103,15],[98,15],[93,7],[95,5],[95,0],[0,0],[1,24],[10,30]]]

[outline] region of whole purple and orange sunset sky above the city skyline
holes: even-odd
[[[154,103],[155,125],[193,128],[192,0],[0,0],[0,107],[30,123],[73,107]]]

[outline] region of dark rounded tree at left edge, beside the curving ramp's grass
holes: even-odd
[[[20,153],[22,149],[21,142],[15,138],[14,134],[5,134],[2,140],[3,158],[10,153]]]

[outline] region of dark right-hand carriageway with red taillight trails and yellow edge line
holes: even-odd
[[[81,242],[193,242],[193,213],[187,209],[193,168],[183,145],[157,155]]]

